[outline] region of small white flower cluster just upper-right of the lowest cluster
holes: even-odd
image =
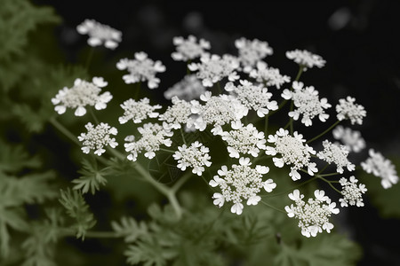
[[[367,191],[364,184],[358,184],[358,180],[355,176],[350,176],[350,181],[348,179],[341,177],[339,183],[342,187],[341,194],[343,199],[340,199],[341,207],[348,207],[356,205],[357,207],[363,207],[363,194]]]

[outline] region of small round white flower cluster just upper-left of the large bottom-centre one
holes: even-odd
[[[212,164],[209,152],[210,150],[207,147],[196,141],[190,146],[181,145],[172,157],[178,160],[177,167],[182,171],[185,171],[188,167],[193,168],[192,173],[201,176],[204,172],[204,166],[210,167]]]

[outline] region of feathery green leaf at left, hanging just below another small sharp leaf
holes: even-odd
[[[84,239],[86,231],[91,229],[96,220],[89,211],[89,206],[84,201],[81,192],[72,191],[68,188],[67,191],[60,191],[60,203],[66,208],[67,214],[75,219],[76,223],[71,225],[71,228],[76,231],[76,238]]]

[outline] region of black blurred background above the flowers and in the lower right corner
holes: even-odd
[[[326,66],[308,70],[301,79],[314,85],[332,106],[339,98],[355,97],[368,114],[363,126],[354,128],[362,130],[368,146],[400,156],[400,1],[34,3],[52,5],[60,14],[63,22],[56,35],[71,63],[80,60],[78,51],[86,46],[86,36],[75,29],[85,19],[123,32],[116,51],[104,51],[110,67],[115,68],[118,59],[132,58],[135,51],[160,59],[167,71],[159,75],[160,88],[153,92],[159,101],[160,91],[178,82],[184,72],[185,66],[170,56],[176,35],[203,37],[217,54],[236,54],[234,41],[241,36],[267,41],[274,49],[274,55],[266,59],[268,64],[292,77],[297,66],[285,59],[284,52],[313,51],[327,61]],[[364,248],[359,265],[400,265],[400,246],[395,243],[400,235],[398,220],[383,220],[367,199],[366,204],[367,208],[348,212],[352,236]]]

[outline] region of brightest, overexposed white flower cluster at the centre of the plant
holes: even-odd
[[[207,125],[216,127],[225,125],[230,121],[241,120],[248,113],[248,109],[231,95],[211,96],[211,92],[206,91],[200,99],[205,102],[204,105],[196,100],[191,101],[192,113],[198,114],[193,123],[196,129],[200,131],[204,131]],[[214,135],[217,135],[217,132]]]

